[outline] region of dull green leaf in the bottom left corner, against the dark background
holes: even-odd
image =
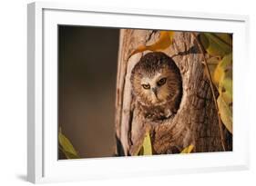
[[[67,139],[67,137],[59,130],[58,132],[58,142],[60,145],[60,150],[64,152],[67,159],[77,159],[80,158],[77,151],[73,147],[72,143]]]

